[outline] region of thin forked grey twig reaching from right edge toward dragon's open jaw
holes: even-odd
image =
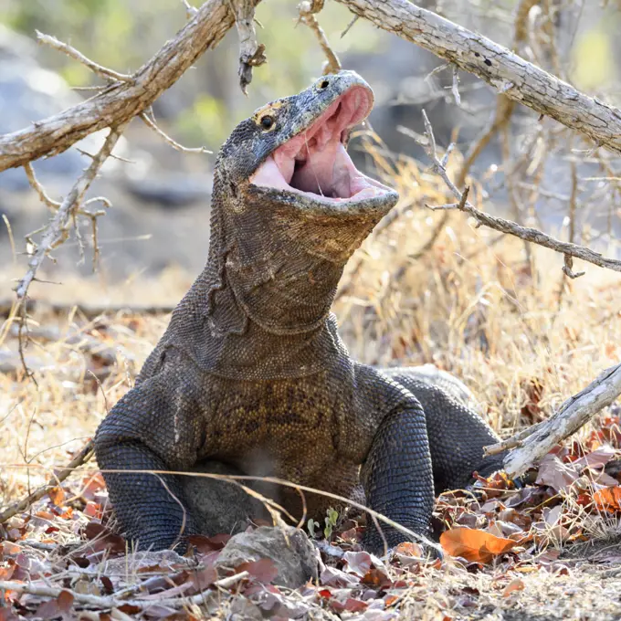
[[[425,148],[429,159],[432,162],[434,170],[439,174],[444,182],[447,184],[448,189],[458,199],[458,205],[443,205],[444,207],[457,208],[466,212],[470,216],[474,217],[477,221],[477,226],[485,225],[489,228],[493,228],[500,233],[507,233],[514,237],[520,237],[525,241],[532,241],[539,246],[550,248],[556,252],[560,252],[563,255],[569,255],[574,258],[581,258],[584,261],[593,263],[600,268],[609,268],[615,271],[621,271],[621,261],[614,258],[603,257],[599,252],[591,250],[590,248],[579,246],[578,244],[572,244],[570,242],[561,241],[555,237],[546,235],[542,231],[532,228],[530,226],[521,226],[510,220],[498,216],[489,216],[482,211],[479,211],[474,205],[471,205],[468,200],[463,202],[463,193],[458,190],[458,187],[450,180],[447,174],[447,169],[442,165],[437,157],[436,151],[436,139],[434,138],[433,129],[431,123],[426,116],[426,112],[423,111],[423,118],[425,121],[427,144],[422,146]],[[428,206],[428,205],[427,205]],[[433,207],[430,207],[433,209]]]

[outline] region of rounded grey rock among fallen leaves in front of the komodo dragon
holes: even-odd
[[[261,526],[232,537],[216,567],[235,569],[241,563],[271,559],[279,573],[273,584],[296,589],[317,577],[318,553],[303,531],[292,526]]]

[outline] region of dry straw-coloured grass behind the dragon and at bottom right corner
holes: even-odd
[[[548,416],[602,369],[618,362],[621,283],[616,275],[589,267],[584,278],[570,282],[561,272],[562,258],[539,249],[528,266],[519,240],[499,239],[494,232],[475,228],[462,214],[451,216],[429,251],[412,258],[440,217],[421,205],[446,203],[445,189],[412,161],[389,161],[377,149],[374,157],[391,183],[396,180],[402,195],[396,210],[402,214],[367,240],[343,279],[345,289],[334,310],[354,357],[381,365],[435,363],[447,369],[471,387],[486,405],[490,424],[503,434]],[[11,270],[3,276],[7,295],[9,279],[16,275]],[[61,287],[37,284],[33,295],[68,303],[174,303],[191,280],[191,275],[175,270],[157,281],[138,275],[110,287],[97,277],[68,277]],[[0,374],[0,504],[43,482],[92,436],[107,406],[132,385],[166,321],[166,316],[121,312],[91,321],[79,310],[61,316],[35,313],[33,327],[53,326],[60,338],[35,339],[28,346],[28,355],[46,363],[36,374],[37,384],[21,371]],[[79,342],[67,342],[75,332],[90,343],[88,354]],[[16,351],[10,326],[5,324],[0,333],[0,352]],[[93,339],[105,352],[116,353],[112,364],[93,350]],[[615,521],[608,527],[603,523],[590,524],[590,532],[606,535],[617,530]],[[472,608],[472,618],[621,614],[616,604],[619,583],[609,575],[607,591],[602,591],[600,570],[516,571],[510,574],[492,566],[481,574],[468,574],[450,563],[446,572],[421,570],[405,595],[401,615],[467,618],[453,615],[458,614],[455,610],[470,614],[468,589],[485,594],[476,610]],[[522,581],[523,590],[503,595],[513,579]],[[550,605],[559,598],[562,606]],[[575,610],[577,599],[582,613]]]

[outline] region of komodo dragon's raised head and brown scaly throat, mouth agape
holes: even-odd
[[[262,306],[272,297],[273,313],[280,295],[290,321],[315,324],[347,259],[395,205],[396,192],[359,171],[346,150],[373,103],[369,85],[341,71],[263,106],[222,147],[212,226],[227,248],[227,279],[251,316],[258,298]],[[293,300],[313,308],[294,310]]]

